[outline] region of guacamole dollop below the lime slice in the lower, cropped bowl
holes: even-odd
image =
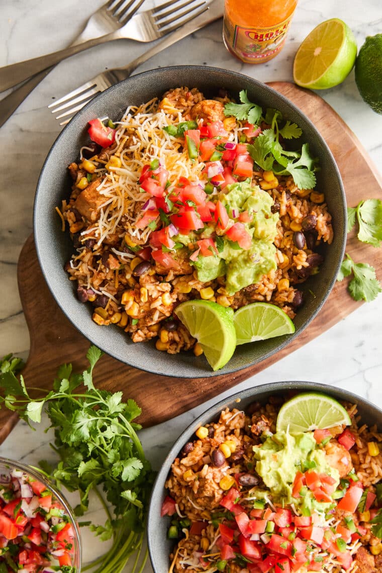
[[[328,507],[327,503],[316,501],[310,490],[298,499],[292,496],[296,473],[306,462],[314,462],[315,472],[333,477],[336,487],[340,483],[338,470],[328,465],[325,452],[317,448],[312,432],[291,435],[279,431],[267,437],[262,445],[253,446],[253,454],[255,469],[275,501],[295,503],[310,511]]]

